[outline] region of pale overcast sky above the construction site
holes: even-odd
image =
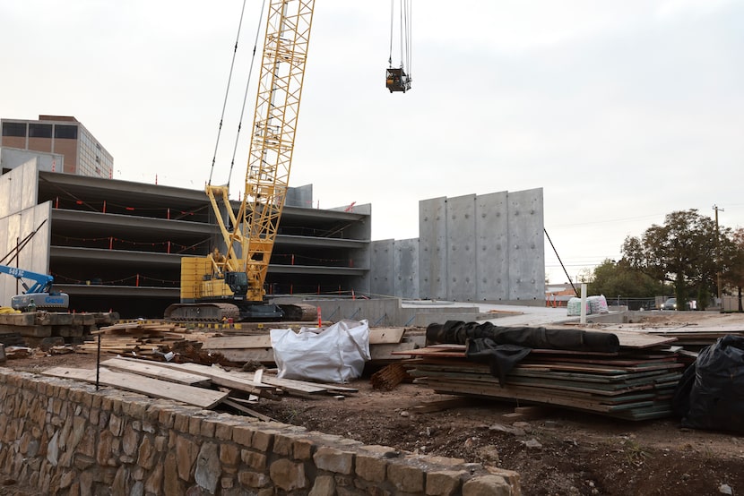
[[[247,4],[214,184],[258,25]],[[0,116],[74,115],[115,178],[201,189],[241,6],[2,1]],[[390,3],[317,0],[290,178],[314,207],[370,203],[372,239],[406,239],[420,200],[543,188],[574,279],[674,210],[717,205],[744,227],[744,0],[414,0],[412,39],[412,90],[390,94]],[[235,195],[246,157],[243,136]]]

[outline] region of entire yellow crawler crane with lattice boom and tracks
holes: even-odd
[[[264,281],[290,181],[299,100],[315,0],[272,0],[255,99],[246,189],[236,214],[229,188],[206,186],[222,241],[206,257],[181,259],[181,304],[172,320],[314,320],[309,305],[279,308],[264,302]],[[225,216],[229,222],[226,225]],[[307,307],[307,308],[306,308]],[[285,315],[287,310],[293,310]]]

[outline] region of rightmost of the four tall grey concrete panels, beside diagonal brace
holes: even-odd
[[[509,298],[545,299],[542,188],[509,193]]]

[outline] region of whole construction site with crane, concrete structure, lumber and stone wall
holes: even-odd
[[[541,187],[373,240],[373,205],[290,186],[314,4],[266,7],[237,197],[2,119],[0,494],[744,491],[740,313],[551,302]]]

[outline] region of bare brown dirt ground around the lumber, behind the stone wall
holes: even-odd
[[[649,312],[644,325],[681,323],[744,325],[744,316]],[[91,355],[37,356],[6,366],[39,372],[60,363],[92,366],[93,360]],[[375,390],[368,377],[351,386],[359,392],[343,399],[262,400],[255,410],[367,444],[515,470],[525,495],[744,494],[744,437],[731,432],[684,429],[674,418],[629,422],[558,407],[541,407],[532,418],[512,423],[502,415],[513,413],[515,404],[482,399],[418,413],[416,406],[454,397],[410,383]],[[0,484],[0,495],[35,494],[24,491],[19,484]]]

